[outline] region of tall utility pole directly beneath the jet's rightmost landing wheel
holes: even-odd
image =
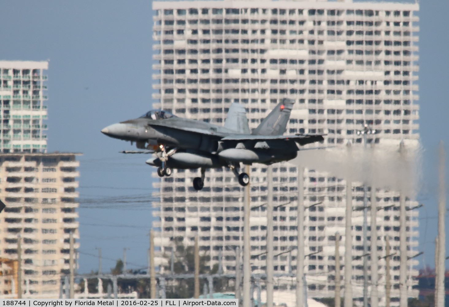
[[[246,173],[250,174],[250,166],[246,166]],[[243,188],[243,306],[251,305],[251,242],[250,242],[250,183]]]

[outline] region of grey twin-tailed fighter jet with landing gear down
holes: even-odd
[[[238,173],[240,163],[270,165],[288,161],[296,157],[298,145],[323,140],[319,134],[283,135],[293,103],[283,99],[252,133],[245,108],[238,103],[229,108],[224,126],[152,110],[134,120],[107,126],[101,132],[111,138],[136,142],[137,148],[152,150],[146,163],[157,166],[160,177],[170,176],[172,168],[199,168],[201,177],[194,178],[193,186],[201,190],[206,169],[225,166],[246,186],[249,175]]]

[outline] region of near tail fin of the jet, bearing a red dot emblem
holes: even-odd
[[[286,131],[287,123],[290,118],[291,109],[295,100],[288,98],[282,99],[271,112],[265,117],[260,125],[254,129],[253,135],[282,135]]]

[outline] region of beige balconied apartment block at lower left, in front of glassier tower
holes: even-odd
[[[79,239],[77,155],[0,155],[0,199],[6,204],[0,219],[0,257],[18,259],[21,236],[22,298],[59,297],[60,278],[69,271],[70,232]],[[14,289],[11,293],[11,276],[0,276],[0,296],[14,297],[17,284]]]

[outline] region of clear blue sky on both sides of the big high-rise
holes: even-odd
[[[420,3],[419,124],[425,150],[418,195],[425,205],[420,267],[433,267],[438,142],[449,148],[447,12],[447,0]],[[48,151],[84,153],[79,158],[83,273],[97,270],[96,248],[102,249],[103,271],[123,257],[123,248],[129,248],[128,267],[147,265],[151,168],[145,156],[119,154],[132,147],[100,129],[151,108],[152,15],[151,1],[142,0],[0,1],[0,59],[50,61]]]

